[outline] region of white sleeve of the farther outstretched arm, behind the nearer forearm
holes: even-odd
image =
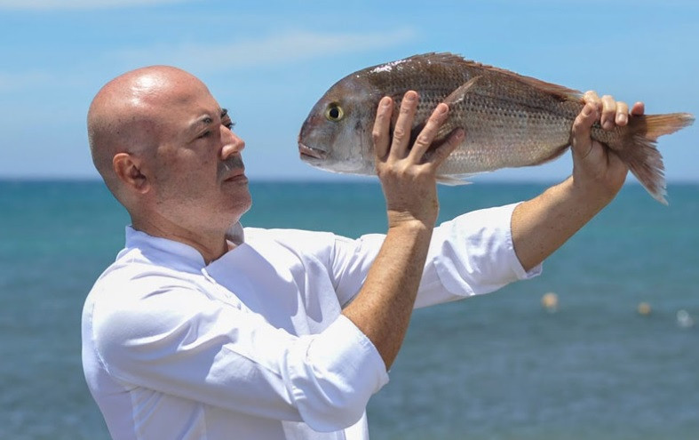
[[[494,292],[541,273],[541,265],[525,271],[514,252],[511,222],[516,206],[468,212],[434,228],[416,308]],[[336,239],[332,272],[342,304],[361,289],[384,238],[370,234]]]

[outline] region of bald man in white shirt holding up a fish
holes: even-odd
[[[388,231],[348,240],[243,231],[245,144],[195,76],[140,68],[98,92],[91,154],[132,223],[85,301],[83,368],[115,439],[368,438],[366,404],[412,309],[535,276],[624,182],[624,164],[590,129],[626,124],[628,107],[588,92],[568,180],[434,228],[435,171],[468,133],[423,163],[449,108],[435,108],[410,146],[417,100],[406,93],[393,136],[393,103],[379,103]]]

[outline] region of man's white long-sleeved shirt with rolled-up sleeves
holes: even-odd
[[[434,229],[416,307],[495,291],[526,273],[515,205]],[[366,439],[388,375],[340,312],[383,235],[240,225],[209,265],[187,244],[126,229],[83,308],[83,369],[115,440]]]

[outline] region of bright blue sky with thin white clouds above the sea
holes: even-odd
[[[92,96],[171,64],[231,110],[252,179],[338,179],[298,159],[301,123],[339,78],[455,52],[579,90],[699,115],[699,3],[0,0],[0,178],[97,178]],[[699,181],[699,124],[661,138],[668,180]],[[474,180],[560,180],[568,156]]]

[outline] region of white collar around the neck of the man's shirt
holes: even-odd
[[[236,246],[244,242],[245,235],[240,222],[228,229],[226,239]],[[193,246],[169,238],[151,236],[127,226],[125,249],[119,253],[117,259],[132,249],[138,249],[147,260],[155,264],[177,270],[201,272],[206,267],[202,254]]]

